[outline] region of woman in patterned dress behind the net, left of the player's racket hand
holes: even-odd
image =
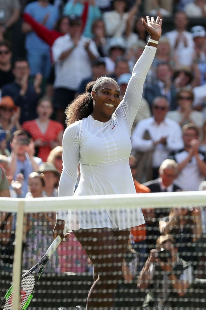
[[[45,197],[43,194],[44,178],[43,173],[32,172],[28,176],[30,197]],[[23,268],[29,270],[44,255],[46,249],[53,241],[51,229],[55,222],[55,213],[41,212],[28,213],[26,247],[23,252]],[[35,243],[35,246],[34,246]],[[54,253],[44,272],[58,272],[58,255]]]

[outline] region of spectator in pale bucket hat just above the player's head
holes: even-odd
[[[120,59],[124,58],[126,49],[127,49],[127,46],[126,46],[125,40],[122,37],[113,37],[109,40],[108,57],[104,58],[105,63],[106,63],[106,71],[108,75],[111,75],[114,73],[115,68],[117,66],[117,62]],[[126,62],[126,59],[124,59],[124,62]],[[127,70],[129,70],[128,63],[127,63]],[[122,72],[122,73],[126,73],[126,72]]]

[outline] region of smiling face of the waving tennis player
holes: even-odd
[[[120,103],[120,89],[115,83],[104,83],[96,91],[92,91],[92,116],[100,122],[107,122]]]

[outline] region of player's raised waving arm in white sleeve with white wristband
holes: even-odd
[[[130,130],[141,102],[143,84],[155,57],[156,47],[162,32],[162,19],[159,16],[156,21],[154,17],[151,17],[150,20],[149,16],[146,17],[146,20],[147,22],[142,18],[142,23],[148,31],[150,39],[133,68],[132,77],[128,83],[125,96],[115,112],[117,116],[125,119]]]

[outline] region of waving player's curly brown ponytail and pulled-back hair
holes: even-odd
[[[91,98],[91,93],[106,83],[115,83],[119,88],[115,79],[109,77],[101,77],[87,83],[86,91],[75,98],[65,110],[67,126],[92,114],[93,100]]]

